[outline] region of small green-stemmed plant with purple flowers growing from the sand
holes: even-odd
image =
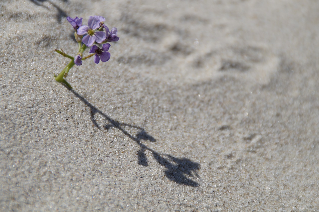
[[[100,60],[106,62],[110,59],[111,54],[108,52],[110,44],[107,42],[118,41],[117,29],[113,27],[109,31],[108,27],[104,24],[105,18],[102,16],[90,16],[87,25],[82,25],[82,18],[66,18],[74,28],[74,37],[78,42],[78,53],[75,57],[66,54],[62,49],[61,51],[55,49],[55,51],[64,57],[69,58],[71,61],[63,68],[63,70],[57,76],[54,75],[56,81],[62,82],[69,88],[71,85],[64,79],[67,77],[69,70],[74,66],[82,65],[82,60],[86,60],[89,57],[94,56],[94,62],[98,64]],[[87,47],[90,47],[89,55],[83,56],[83,52]]]

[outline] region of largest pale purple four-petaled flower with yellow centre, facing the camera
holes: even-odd
[[[102,17],[103,18],[103,17]],[[78,28],[78,35],[85,35],[82,42],[86,46],[92,46],[94,42],[102,43],[106,39],[106,34],[103,31],[96,31],[100,27],[100,21],[97,16],[90,16],[87,25]]]

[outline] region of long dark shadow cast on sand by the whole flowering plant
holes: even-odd
[[[63,84],[64,85],[64,84]],[[66,85],[64,85],[70,92],[72,92],[77,98],[79,98],[85,105],[87,105],[91,110],[91,121],[94,126],[96,126],[98,129],[101,130],[101,127],[94,119],[95,114],[102,115],[110,124],[105,124],[103,128],[105,130],[108,130],[112,127],[122,131],[124,135],[129,137],[131,140],[135,141],[139,146],[140,150],[137,151],[137,157],[138,157],[138,164],[141,166],[148,166],[147,158],[145,155],[145,150],[150,151],[153,154],[154,159],[159,163],[159,165],[164,166],[166,170],[164,171],[166,177],[169,180],[172,180],[178,184],[192,186],[192,187],[198,187],[199,184],[195,182],[192,179],[189,179],[188,177],[194,177],[193,173],[197,178],[199,178],[199,175],[197,174],[197,170],[200,169],[200,164],[191,161],[187,158],[175,158],[174,156],[171,156],[169,154],[161,154],[158,153],[151,148],[147,147],[143,143],[141,143],[141,140],[148,140],[151,142],[156,142],[155,138],[153,138],[151,135],[149,135],[142,127],[121,123],[118,121],[115,121],[114,119],[108,117],[105,113],[103,113],[101,110],[94,107],[90,102],[88,102],[83,96],[75,92],[73,89],[68,88]],[[136,136],[131,135],[128,131],[122,128],[122,126],[134,128],[138,130],[138,133]]]

